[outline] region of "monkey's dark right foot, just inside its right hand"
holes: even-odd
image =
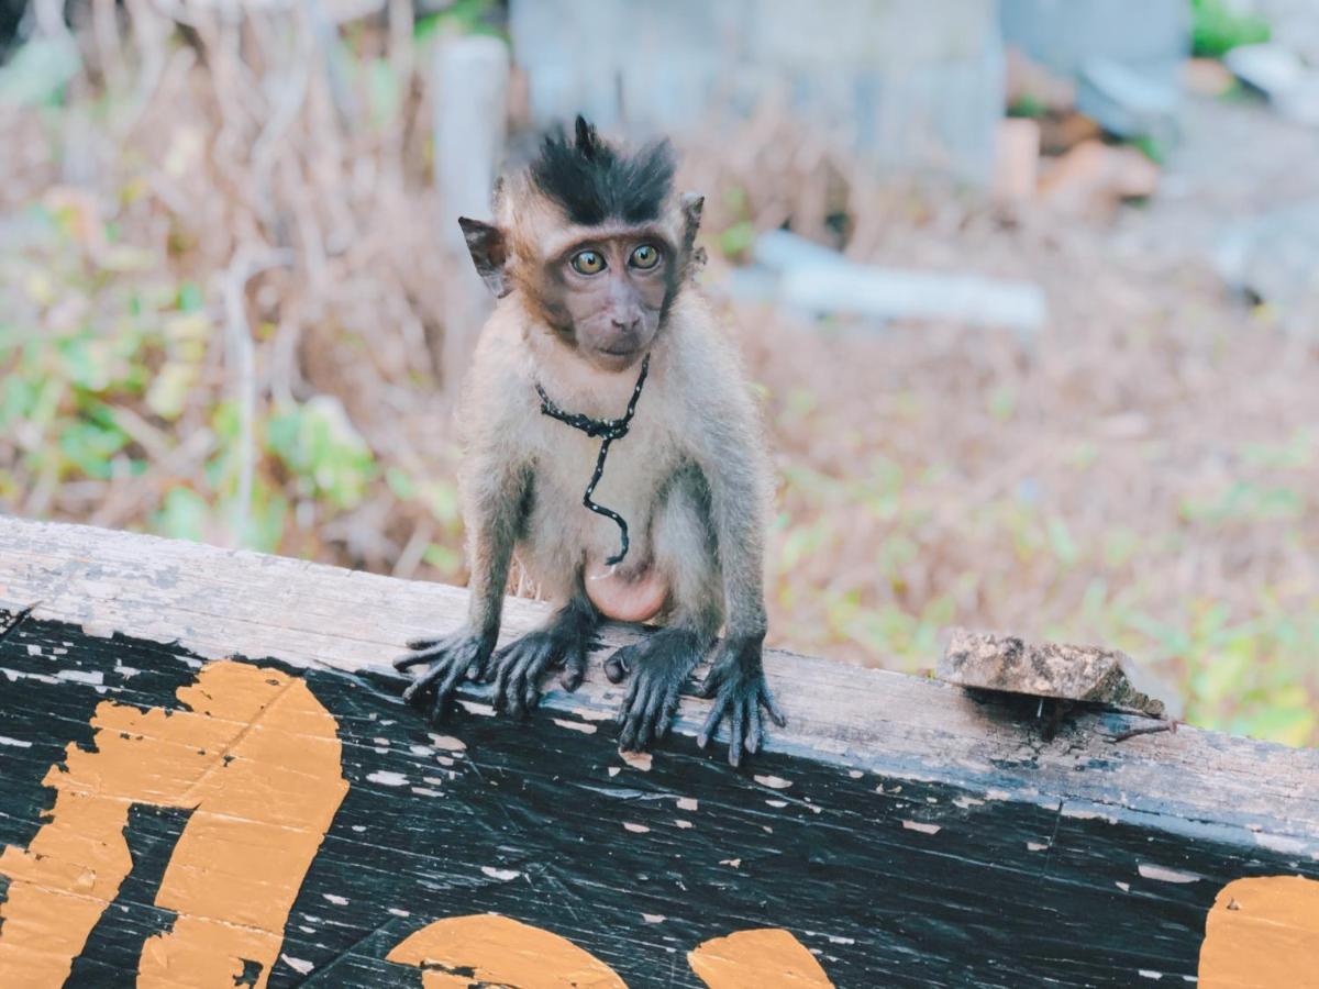
[[[619,709],[619,749],[642,752],[669,733],[678,695],[687,675],[700,662],[700,637],[687,629],[661,629],[649,638],[624,646],[604,665],[617,683],[636,667],[632,688]]]

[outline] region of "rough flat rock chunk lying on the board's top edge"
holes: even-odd
[[[1125,653],[1099,646],[1025,642],[1016,636],[956,629],[939,662],[939,679],[963,687],[1107,704],[1162,717],[1162,700],[1141,692],[1144,678]]]

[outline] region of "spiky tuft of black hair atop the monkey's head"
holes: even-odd
[[[591,227],[609,219],[658,219],[673,193],[675,166],[667,141],[623,154],[578,116],[575,140],[570,141],[562,129],[546,135],[530,175],[536,189],[563,207],[572,223]]]

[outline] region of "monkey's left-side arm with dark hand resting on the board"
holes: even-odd
[[[445,716],[463,676],[476,679],[484,673],[495,649],[513,543],[530,484],[529,465],[500,451],[497,443],[468,451],[462,485],[471,567],[467,625],[438,638],[410,640],[408,647],[413,651],[394,661],[398,670],[426,665],[404,691],[404,700],[418,707],[430,702],[435,720]]]

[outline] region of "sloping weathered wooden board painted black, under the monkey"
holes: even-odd
[[[289,891],[286,924],[239,924],[278,952],[269,965],[247,957],[228,984],[418,985],[415,967],[386,956],[431,922],[489,911],[567,939],[634,986],[702,985],[687,952],[758,928],[790,932],[843,986],[1190,980],[1203,976],[1224,886],[1319,878],[1319,753],[1194,729],[1111,745],[1105,734],[1138,721],[1109,713],[1082,713],[1046,742],[1034,711],[782,653],[768,667],[790,725],[740,773],[695,749],[696,699],[652,758],[620,757],[607,719],[621,694],[598,662],[528,725],[489,716],[471,686],[437,729],[398,702],[388,659],[409,636],[452,628],[463,601],[439,585],[0,520],[0,972],[25,930],[15,856],[66,819],[61,794],[80,761],[109,765],[116,746],[145,753],[116,771],[177,750],[204,782],[124,798],[132,868],[70,985],[125,981],[144,943],[179,935],[179,902],[231,873],[239,882],[243,858],[261,857],[222,856],[199,886],[178,878],[194,862],[181,836],[216,818],[208,800],[235,799],[216,779],[252,766],[262,787],[306,777],[309,753],[335,745],[342,802]],[[542,616],[510,601],[508,630]],[[601,651],[636,634],[611,628]],[[248,659],[207,665],[235,655]],[[206,705],[224,700],[216,676],[232,667],[280,698],[305,687],[332,738],[306,727],[310,708],[297,731],[277,731],[270,704],[251,725],[227,716],[230,741],[211,756],[179,745],[171,733],[227,724]],[[194,683],[208,700],[186,694]],[[116,719],[146,727],[116,731]],[[262,770],[259,742],[285,736],[291,748]],[[207,787],[219,796],[198,798]],[[257,827],[288,789],[272,782],[257,808],[223,819]],[[299,828],[315,831],[278,833]],[[773,984],[762,974],[729,985]]]

